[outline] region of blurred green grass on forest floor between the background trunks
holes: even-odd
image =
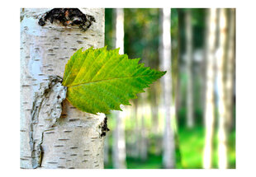
[[[235,168],[235,131],[231,132],[228,137],[228,161],[229,168]],[[176,168],[178,169],[201,169],[202,156],[204,147],[204,128],[197,126],[192,129],[179,128],[178,142],[179,148],[176,149]],[[150,143],[150,146],[156,146],[156,142]],[[217,133],[214,137],[214,151],[213,151],[213,168],[217,167]],[[126,156],[126,163],[128,169],[161,169],[162,156],[161,153],[156,155],[152,153],[154,147],[149,147],[149,156],[146,161],[141,161],[140,158]],[[111,157],[111,155],[110,155]],[[110,162],[105,165],[105,168],[113,168]]]

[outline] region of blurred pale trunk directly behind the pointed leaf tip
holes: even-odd
[[[161,70],[167,71],[162,77],[163,85],[163,100],[164,100],[164,155],[163,164],[164,168],[175,167],[175,141],[173,132],[173,121],[171,116],[172,99],[172,72],[171,72],[171,10],[169,8],[163,9],[163,35],[162,35],[162,53],[160,55]]]

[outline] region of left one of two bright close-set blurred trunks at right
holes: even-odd
[[[214,100],[214,82],[215,82],[215,54],[216,54],[216,26],[217,26],[217,10],[211,8],[207,10],[206,17],[206,100],[204,110],[204,123],[206,128],[205,147],[203,154],[203,167],[211,168],[212,159],[212,141],[214,134],[215,122],[215,100]]]

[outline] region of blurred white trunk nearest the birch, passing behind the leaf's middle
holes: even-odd
[[[124,54],[124,9],[116,8],[116,48]],[[113,136],[113,166],[116,169],[126,168],[126,135],[124,111],[115,113],[116,128]]]

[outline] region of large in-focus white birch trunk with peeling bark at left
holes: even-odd
[[[105,115],[70,105],[61,85],[75,50],[104,45],[104,9],[80,10],[96,21],[86,31],[58,21],[40,26],[50,9],[21,9],[21,168],[104,167]]]

